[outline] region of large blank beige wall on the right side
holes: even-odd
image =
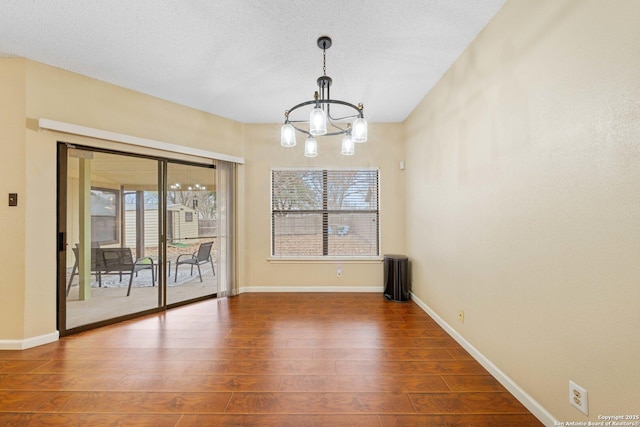
[[[406,122],[415,294],[559,421],[639,408],[639,18],[511,0]]]

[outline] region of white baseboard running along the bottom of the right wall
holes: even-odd
[[[469,341],[467,341],[462,335],[452,328],[447,322],[445,322],[438,314],[431,309],[427,304],[416,297],[413,293],[411,299],[418,304],[438,325],[442,327],[451,337],[458,342],[465,350],[471,354],[471,356],[480,363],[495,379],[500,382],[509,390],[513,396],[518,399],[520,403],[524,405],[536,418],[540,420],[545,426],[556,426],[557,421],[553,415],[549,413],[542,405],[540,405],[533,397],[525,392],[518,384],[516,384],[507,374],[502,372],[496,365],[493,364],[486,356],[484,356],[477,348],[475,348]]]

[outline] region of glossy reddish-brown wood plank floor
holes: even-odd
[[[0,425],[540,426],[416,304],[242,294],[0,352]]]

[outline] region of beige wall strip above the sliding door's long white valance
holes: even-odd
[[[27,117],[242,156],[241,124],[27,61]],[[240,142],[240,143],[239,143]]]

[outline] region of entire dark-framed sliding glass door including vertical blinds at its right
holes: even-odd
[[[235,293],[233,164],[60,143],[62,335]]]

